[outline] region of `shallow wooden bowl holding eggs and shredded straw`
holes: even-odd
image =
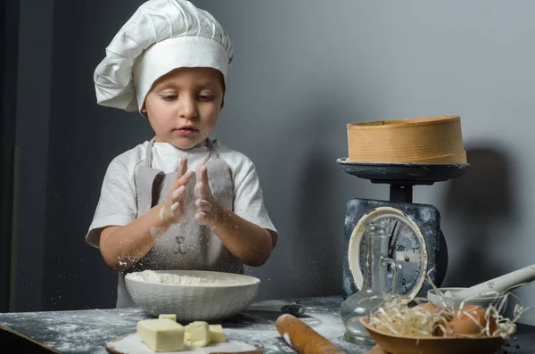
[[[501,337],[402,337],[377,332],[367,324],[366,317],[360,318],[360,323],[370,333],[375,344],[389,354],[493,354],[506,342]]]

